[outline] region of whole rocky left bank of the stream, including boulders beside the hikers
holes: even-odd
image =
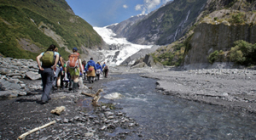
[[[84,80],[79,92],[67,88],[51,92],[48,104],[38,102],[42,81],[35,61],[0,58],[0,139],[17,139],[21,134],[50,121],[56,123],[26,136],[26,139],[125,139],[137,135],[138,124],[114,103],[92,105],[92,98],[81,92],[96,93],[103,83],[116,80],[112,76],[89,83]],[[51,114],[56,107],[66,109],[61,115]],[[119,129],[125,131],[117,131]]]

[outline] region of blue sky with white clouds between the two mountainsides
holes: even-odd
[[[90,25],[103,27],[137,14],[148,14],[170,0],[66,0],[73,12]]]

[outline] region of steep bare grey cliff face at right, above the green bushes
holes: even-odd
[[[245,8],[243,8],[245,9]],[[189,40],[189,48],[184,55],[184,67],[187,69],[210,68],[207,57],[215,50],[224,51],[222,62],[232,67],[229,52],[234,42],[243,40],[255,43],[256,14],[234,9],[214,11],[198,23]]]

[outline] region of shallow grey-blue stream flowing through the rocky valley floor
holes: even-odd
[[[256,139],[256,119],[217,105],[201,104],[155,92],[155,80],[116,75],[105,92],[139,123],[138,134],[127,139]]]

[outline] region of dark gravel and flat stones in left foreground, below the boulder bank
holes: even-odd
[[[80,92],[96,93],[102,83],[114,80],[112,77],[84,84],[91,89],[69,92],[68,89],[53,92],[48,104],[39,104],[41,90],[33,91],[26,96],[3,99],[0,101],[0,139],[17,139],[22,133],[38,126],[43,126],[52,120],[56,123],[38,132],[34,132],[26,139],[123,139],[134,132],[138,124],[135,120],[122,113],[118,107],[110,103],[99,102],[99,106],[91,104],[90,97]],[[24,81],[27,86],[40,84],[40,81]],[[101,93],[102,96],[104,92]],[[51,114],[55,107],[65,106],[61,115]],[[115,108],[115,109],[113,109]],[[116,128],[126,132],[112,134]]]

